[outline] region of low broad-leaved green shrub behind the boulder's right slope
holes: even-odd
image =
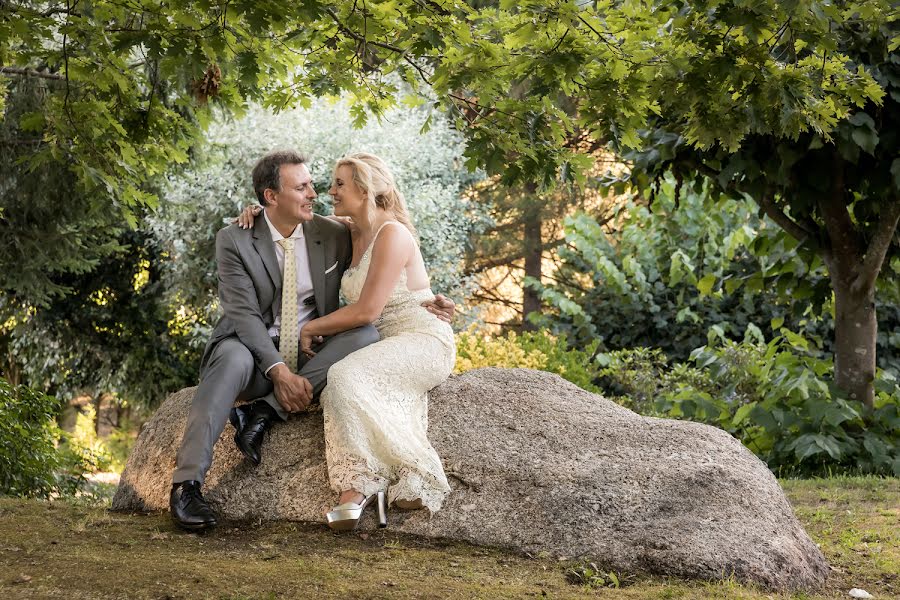
[[[782,329],[766,342],[750,328],[742,342],[710,331],[671,368],[659,351],[600,356],[601,385],[645,414],[700,421],[740,439],[778,475],[861,472],[900,475],[900,387],[879,372],[874,408],[831,382],[832,363]]]

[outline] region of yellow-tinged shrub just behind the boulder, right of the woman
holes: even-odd
[[[599,392],[594,383],[597,368],[594,354],[597,342],[584,350],[570,349],[565,336],[547,332],[509,332],[505,337],[490,337],[475,331],[461,333],[456,339],[456,373],[481,367],[539,369],[556,373],[590,392]]]

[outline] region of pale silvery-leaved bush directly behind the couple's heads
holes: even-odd
[[[480,175],[463,166],[463,140],[449,122],[434,114],[423,132],[426,119],[427,109],[404,107],[355,129],[345,102],[319,100],[308,109],[278,114],[252,107],[240,119],[212,123],[191,166],[165,182],[160,209],[150,219],[168,245],[167,284],[173,302],[183,307],[182,325],[192,329],[194,343],[204,341],[216,318],[216,232],[256,203],[250,172],[262,155],[278,148],[296,149],[310,159],[320,214],[331,213],[326,192],[339,157],[357,151],[382,157],[419,231],[432,289],[463,300],[471,289],[462,273],[465,247],[486,222],[483,209],[466,202],[463,191]]]

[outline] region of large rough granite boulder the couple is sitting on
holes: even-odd
[[[193,392],[146,424],[114,509],[168,507]],[[274,426],[255,469],[233,435],[227,425],[216,444],[211,503],[231,519],[324,521],[336,495],[321,412]],[[714,427],[642,417],[550,373],[479,369],[432,391],[429,437],[453,492],[432,516],[392,511],[394,530],[779,589],[815,588],[828,572],[765,464]]]

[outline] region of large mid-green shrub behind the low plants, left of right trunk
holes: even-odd
[[[529,315],[571,344],[603,351],[658,347],[686,361],[713,326],[740,340],[755,324],[767,337],[780,320],[833,351],[832,292],[809,248],[760,217],[752,203],[661,182],[649,205],[626,202],[605,225],[588,214],[565,220],[565,244],[550,281],[528,279],[544,310]],[[900,261],[885,264],[900,274]],[[900,377],[900,288],[887,276],[876,297],[878,366]]]

